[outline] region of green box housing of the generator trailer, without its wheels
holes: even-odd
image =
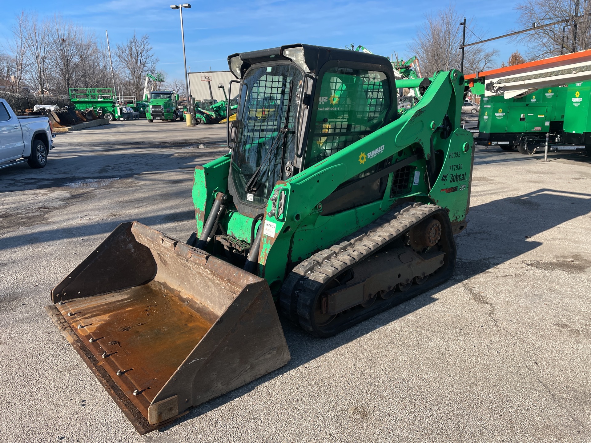
[[[482,97],[479,131],[483,133],[545,133],[550,122],[564,119],[566,87],[539,89],[517,99]]]

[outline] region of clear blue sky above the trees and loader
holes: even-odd
[[[169,79],[183,78],[183,53],[178,11],[170,1],[119,0],[72,2],[72,0],[27,0],[3,2],[0,43],[9,36],[9,27],[22,9],[40,17],[61,14],[64,18],[95,31],[104,38],[109,31],[111,48],[129,38],[134,30],[150,35],[158,67]],[[411,55],[413,39],[424,12],[445,5],[436,1],[277,1],[193,2],[184,9],[187,64],[191,71],[226,70],[229,54],[275,47],[290,43],[309,43],[345,47],[362,44],[375,54]],[[456,4],[467,17],[475,17],[473,31],[480,37],[505,34],[517,27],[514,1],[497,0]],[[483,38],[483,37],[482,37]],[[475,37],[467,32],[466,40]],[[491,47],[500,51],[499,64],[515,49],[525,48],[508,40]]]

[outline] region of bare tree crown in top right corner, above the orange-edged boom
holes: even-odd
[[[559,56],[591,48],[591,2],[588,0],[525,0],[515,9],[521,28],[530,28],[532,22],[544,24],[564,18],[566,24],[537,29],[515,37],[527,44],[528,58]],[[577,18],[578,16],[583,16]],[[576,28],[576,41],[574,40]]]

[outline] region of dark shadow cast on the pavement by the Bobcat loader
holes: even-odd
[[[330,338],[311,337],[282,318],[281,323],[291,353],[291,361],[288,364],[248,385],[196,406],[177,422],[190,420],[212,411],[268,380],[307,364],[411,312],[420,310],[437,301],[437,293],[441,289],[449,288],[541,245],[540,242],[532,241],[529,237],[590,212],[591,194],[551,189],[540,189],[518,197],[501,198],[473,207],[469,213],[468,218],[471,220],[467,229],[456,237],[458,264],[452,279],[438,288],[427,291]],[[467,258],[466,255],[472,258]]]

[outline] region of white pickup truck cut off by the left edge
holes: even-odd
[[[43,168],[53,149],[49,119],[17,116],[7,101],[0,99],[0,169],[27,160],[31,168]]]

